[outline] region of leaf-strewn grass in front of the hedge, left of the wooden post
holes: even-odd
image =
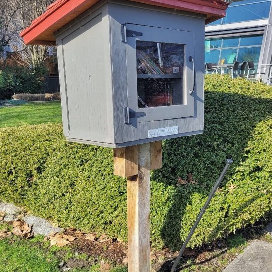
[[[2,229],[11,231],[12,226],[0,222]],[[0,239],[0,272],[63,272],[66,264],[72,266],[69,272],[101,272],[93,258],[68,246],[50,247],[41,235],[29,240],[15,235]],[[127,272],[127,268],[113,266],[107,272]]]

